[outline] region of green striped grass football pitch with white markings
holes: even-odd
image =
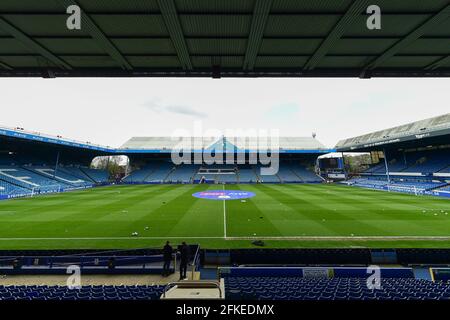
[[[197,199],[246,190],[241,200]],[[138,232],[138,236],[132,236]],[[121,185],[0,202],[0,249],[450,247],[450,201],[341,185]]]

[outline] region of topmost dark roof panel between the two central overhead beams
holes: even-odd
[[[253,12],[255,0],[175,0],[179,12]]]

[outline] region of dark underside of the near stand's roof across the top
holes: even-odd
[[[72,4],[81,30],[66,27]],[[449,0],[2,0],[0,76],[448,77],[449,13]]]

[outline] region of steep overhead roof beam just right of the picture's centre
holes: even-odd
[[[244,70],[253,70],[255,67],[256,57],[261,47],[271,6],[272,0],[257,0],[255,3],[252,25],[248,36],[247,51],[244,58]]]

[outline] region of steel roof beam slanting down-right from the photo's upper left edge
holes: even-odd
[[[48,61],[54,63],[56,66],[71,70],[72,67],[65,62],[64,60],[60,59],[50,51],[48,51],[46,48],[41,46],[38,42],[34,41],[32,38],[27,36],[25,33],[23,33],[21,30],[17,29],[15,26],[13,26],[11,23],[7,22],[5,19],[0,17],[0,29],[4,30],[5,32],[12,35],[15,39],[20,41],[25,47],[27,47],[29,50],[40,54],[44,58],[46,58]]]

